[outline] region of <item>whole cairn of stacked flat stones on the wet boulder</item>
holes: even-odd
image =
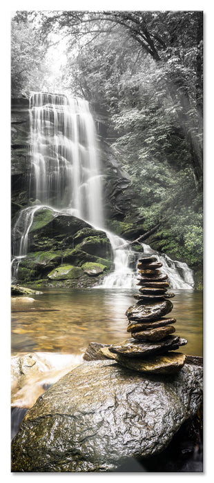
[[[186,358],[182,353],[173,352],[187,341],[174,335],[176,320],[164,317],[173,309],[170,298],[175,294],[167,293],[168,276],[160,273],[161,266],[152,255],[139,259],[137,285],[140,295],[134,295],[137,304],[126,311],[131,338],[101,348],[106,357],[142,373],[175,373]]]

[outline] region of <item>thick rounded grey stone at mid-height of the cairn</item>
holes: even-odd
[[[149,303],[147,305],[130,306],[126,311],[126,315],[130,320],[143,320],[144,322],[164,317],[171,312],[173,304],[171,300],[163,300],[158,303]]]

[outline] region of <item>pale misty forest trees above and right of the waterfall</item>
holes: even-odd
[[[12,97],[57,88],[104,117],[153,248],[185,261],[201,288],[202,11],[22,10],[11,50]]]

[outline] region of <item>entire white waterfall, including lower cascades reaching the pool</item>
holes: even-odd
[[[96,131],[88,101],[68,95],[33,92],[30,96],[29,198],[36,201],[19,213],[12,231],[12,279],[21,258],[28,253],[28,234],[38,210],[73,215],[105,230],[102,173]],[[105,277],[105,288],[136,285],[137,253],[124,250],[123,239],[106,232],[113,248],[115,271]],[[118,249],[119,247],[119,249]],[[142,244],[142,252],[149,246]],[[150,252],[149,252],[150,253]],[[172,288],[192,288],[193,275],[186,264],[159,257]],[[185,265],[185,266],[184,266]],[[166,270],[167,268],[167,270]]]

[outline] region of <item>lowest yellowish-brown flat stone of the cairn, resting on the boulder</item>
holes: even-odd
[[[142,357],[128,359],[128,357],[119,354],[115,356],[115,360],[121,364],[121,366],[139,373],[151,374],[177,373],[177,371],[184,366],[185,359],[186,356],[179,352],[171,352],[166,355],[153,355],[146,357],[146,359],[142,359]]]

